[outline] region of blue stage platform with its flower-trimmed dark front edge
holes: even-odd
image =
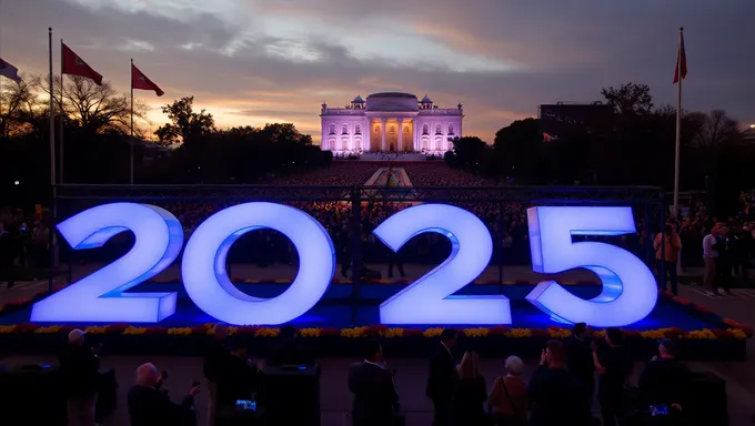
[[[240,290],[259,297],[274,297],[288,288],[285,283],[236,283]],[[354,356],[362,337],[384,339],[384,345],[400,356],[424,356],[437,325],[380,326],[379,306],[403,288],[402,283],[363,284],[355,297],[351,283],[333,283],[325,296],[306,314],[292,322],[302,329],[304,339],[319,356]],[[566,286],[573,294],[591,298],[600,293],[597,285]],[[503,294],[511,300],[513,324],[449,325],[459,328],[471,347],[487,356],[519,354],[536,357],[548,338],[564,338],[568,331],[552,321],[524,297],[534,284],[470,285],[456,294]],[[200,311],[178,283],[143,283],[130,292],[177,292],[175,314],[158,324],[28,324],[32,301],[7,306],[0,314],[0,347],[12,352],[47,353],[57,351],[64,333],[73,327],[87,328],[93,338],[107,342],[118,354],[198,355],[209,338],[215,320]],[[37,300],[43,297],[39,295]],[[234,327],[238,337],[249,338],[255,351],[264,353],[279,328]],[[693,359],[742,359],[746,355],[745,338],[752,328],[725,320],[702,306],[662,293],[655,310],[643,321],[625,327],[630,346],[637,357],[650,357],[657,339],[675,337]],[[600,333],[600,332],[598,332]]]

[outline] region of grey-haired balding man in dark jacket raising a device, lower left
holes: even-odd
[[[192,415],[194,396],[199,394],[199,383],[194,382],[188,395],[175,404],[167,392],[160,389],[165,374],[150,363],[137,368],[137,384],[129,389],[128,404],[131,426],[184,425]]]

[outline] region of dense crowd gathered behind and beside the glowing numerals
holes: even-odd
[[[363,161],[335,161],[325,169],[319,169],[306,174],[292,175],[286,178],[272,179],[270,183],[275,186],[270,186],[271,192],[262,194],[265,186],[255,189],[239,189],[238,194],[228,200],[215,200],[212,202],[167,202],[157,203],[173,213],[184,227],[184,240],[199,226],[207,217],[213,213],[243,202],[244,196],[250,199],[263,197],[266,200],[275,200],[281,196],[281,187],[289,187],[284,194],[289,200],[296,199],[298,195],[306,196],[310,200],[319,197],[309,186],[318,185],[323,192],[323,201],[286,201],[294,207],[301,209],[316,219],[330,233],[336,257],[341,264],[341,273],[345,277],[349,275],[351,268],[351,257],[353,254],[353,233],[356,227],[353,224],[352,205],[348,201],[349,194],[345,187],[358,184],[364,184],[371,175],[380,168],[402,168],[406,171],[409,179],[414,187],[445,187],[444,194],[446,199],[457,200],[457,196],[472,196],[471,192],[491,191],[499,183],[486,180],[482,176],[472,173],[451,169],[443,162],[363,162]],[[288,185],[288,186],[280,186]],[[294,186],[302,185],[302,186]],[[331,186],[333,190],[324,189]],[[479,190],[471,190],[477,187]],[[486,190],[489,187],[490,190]],[[250,193],[252,191],[253,193]],[[316,192],[315,191],[315,192]],[[432,191],[431,191],[432,192]],[[424,192],[423,196],[431,199],[435,193]],[[443,195],[441,195],[443,196]],[[716,223],[716,237],[722,240],[723,251],[721,258],[717,261],[719,267],[717,273],[714,273],[708,266],[706,271],[711,276],[718,276],[716,281],[722,282],[725,287],[729,280],[729,274],[726,271],[732,268],[737,270],[739,276],[748,280],[747,270],[752,267],[753,257],[755,254],[755,244],[752,235],[752,221],[755,220],[755,207],[749,209],[752,204],[752,194],[743,193],[743,211],[736,215],[723,220],[721,217],[712,216],[707,213],[703,200],[691,200],[689,206],[686,209],[685,216],[681,221],[670,221],[673,225],[674,233],[678,234],[680,247],[672,245],[666,250],[665,267],[661,267],[661,262],[657,263],[656,273],[658,275],[662,270],[671,282],[671,287],[675,290],[677,276],[675,263],[681,262],[682,267],[705,267],[705,258],[709,256],[703,255],[703,239],[711,234]],[[372,234],[372,231],[382,223],[386,217],[396,212],[415,205],[414,201],[399,201],[399,200],[382,200],[373,197],[369,202],[363,202],[360,211],[359,224],[359,240],[361,242],[361,262],[364,264],[396,264],[400,266],[403,263],[421,263],[421,264],[436,264],[443,262],[450,252],[449,242],[437,234],[422,234],[412,239],[397,254],[387,250],[384,244],[378,241]],[[493,264],[528,264],[530,263],[530,243],[528,243],[528,227],[526,221],[526,209],[530,204],[519,202],[474,202],[474,201],[459,201],[454,204],[474,213],[489,227],[491,236],[497,243],[494,244],[494,255],[491,262]],[[70,211],[80,211],[91,205],[70,206]],[[640,212],[638,212],[640,213]],[[656,233],[663,233],[651,224],[644,223],[643,214],[635,214],[637,219],[635,234],[623,235],[611,240],[612,243],[618,244],[626,250],[630,250],[640,258],[645,258],[647,254],[646,247],[651,243],[655,243],[655,248],[660,248],[660,240]],[[47,265],[50,258],[49,255],[49,229],[46,226],[44,213],[36,211],[33,214],[24,213],[22,211],[6,211],[2,214],[2,240],[0,240],[0,280],[6,280],[9,285],[12,285],[19,270],[29,266]],[[749,221],[749,222],[748,222]],[[723,226],[726,225],[726,226]],[[120,243],[119,243],[120,241]],[[121,253],[123,245],[131,244],[132,236],[128,233],[118,235],[109,244],[111,248],[99,250],[97,253],[72,253],[66,251],[61,256],[63,261],[69,262],[110,262],[118,253]],[[681,252],[681,255],[678,253]],[[676,256],[673,257],[672,256]],[[661,260],[661,253],[656,254],[656,260]],[[650,260],[648,260],[650,261]],[[282,234],[274,231],[259,231],[250,233],[240,239],[234,248],[229,253],[229,262],[231,263],[256,263],[260,266],[270,266],[275,263],[280,264],[295,264],[296,252],[291,242]],[[723,263],[727,262],[728,265]],[[393,275],[392,267],[389,268],[387,276]],[[714,280],[708,280],[713,282]],[[709,287],[709,286],[708,286]],[[711,288],[712,293],[715,293]]]

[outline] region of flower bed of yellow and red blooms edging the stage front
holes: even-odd
[[[31,300],[13,301],[0,310],[0,315],[29,305],[46,294]],[[711,310],[692,302],[661,293],[670,303],[678,304],[697,317],[712,324],[711,328],[685,331],[676,327],[657,329],[626,329],[628,346],[637,357],[655,354],[657,339],[676,338],[687,358],[692,359],[742,359],[745,356],[745,341],[753,335],[753,328],[733,320],[722,318]],[[211,337],[214,324],[184,327],[110,325],[0,325],[0,346],[11,352],[57,351],[64,343],[64,335],[73,328],[84,329],[93,339],[102,342],[112,354],[165,354],[198,355]],[[365,337],[380,338],[391,356],[425,356],[440,335],[441,327],[401,328],[383,325],[350,328],[301,328],[302,341],[308,342],[319,356],[354,356],[359,354],[360,342]],[[239,326],[229,327],[232,338],[248,339],[250,347],[263,354],[280,333],[278,327]],[[563,339],[571,331],[562,327],[513,328],[507,326],[461,328],[464,346],[474,347],[482,355],[536,357],[545,341]],[[603,332],[595,332],[603,337]]]

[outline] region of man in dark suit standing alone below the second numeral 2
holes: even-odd
[[[391,426],[399,404],[393,373],[385,368],[380,343],[366,341],[363,351],[364,361],[349,369],[349,390],[354,394],[352,425]]]

